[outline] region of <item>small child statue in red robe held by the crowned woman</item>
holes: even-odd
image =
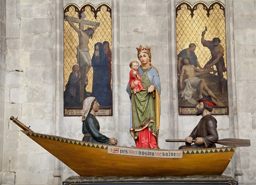
[[[130,71],[130,80],[129,80],[130,87],[133,81],[138,81],[138,85],[134,87],[134,94],[136,94],[136,92],[140,92],[141,90],[146,90],[141,83],[140,73],[137,72],[138,67],[139,67],[139,63],[137,61],[131,61],[130,63],[131,71]]]

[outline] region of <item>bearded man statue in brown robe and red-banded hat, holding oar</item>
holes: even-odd
[[[216,147],[215,143],[218,141],[217,120],[210,115],[216,104],[212,102],[210,95],[201,98],[198,102],[196,115],[202,115],[203,117],[192,133],[186,137],[186,145],[180,146],[179,149]],[[191,145],[192,139],[196,140],[195,145]]]

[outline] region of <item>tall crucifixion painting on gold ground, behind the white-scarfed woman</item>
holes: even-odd
[[[81,116],[89,96],[112,116],[111,6],[71,3],[64,15],[64,116]]]

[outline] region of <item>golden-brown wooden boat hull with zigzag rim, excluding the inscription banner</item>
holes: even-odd
[[[93,144],[28,131],[22,132],[80,176],[221,175],[236,150],[236,147],[178,150],[183,153],[183,158],[125,156],[108,153],[109,145]],[[141,150],[153,151],[152,149]]]

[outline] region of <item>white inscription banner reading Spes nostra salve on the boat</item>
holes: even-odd
[[[108,146],[108,153],[139,157],[183,158],[182,150],[147,150],[140,148]]]

